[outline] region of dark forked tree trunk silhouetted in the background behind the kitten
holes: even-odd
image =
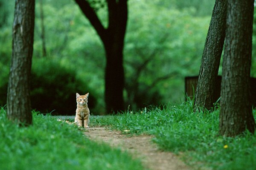
[[[128,19],[127,0],[106,0],[108,28],[104,28],[87,0],[75,0],[101,38],[105,53],[105,104],[107,113],[124,109],[123,48]]]

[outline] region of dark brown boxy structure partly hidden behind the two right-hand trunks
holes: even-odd
[[[256,107],[256,78],[250,78],[250,98],[251,98],[251,105]],[[193,94],[195,94],[195,89],[198,84],[198,76],[192,77],[185,77],[185,93],[190,99],[193,98]],[[194,89],[193,89],[194,88]],[[217,101],[218,98],[221,96],[221,76],[217,77],[215,93],[213,97],[213,101]],[[185,99],[187,100],[187,98]]]

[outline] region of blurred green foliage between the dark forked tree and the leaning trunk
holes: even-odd
[[[178,102],[184,77],[198,74],[210,16],[195,17],[160,1],[130,1],[129,10],[124,50],[127,105],[136,110]]]

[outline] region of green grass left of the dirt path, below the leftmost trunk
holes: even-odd
[[[0,110],[0,170],[142,170],[128,153],[98,144],[76,126],[33,112],[33,125],[18,127]]]

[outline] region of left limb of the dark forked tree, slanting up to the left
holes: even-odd
[[[90,6],[90,3],[88,3],[87,0],[75,0],[75,1],[79,5],[81,11],[88,18],[92,26],[95,28],[95,30],[99,34],[99,37],[103,41],[103,39],[105,39],[106,37],[106,29],[100,22],[99,17],[97,16],[94,9]]]

